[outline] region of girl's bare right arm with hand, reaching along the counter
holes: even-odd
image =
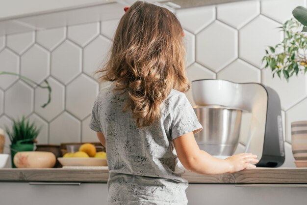
[[[257,163],[256,155],[242,153],[230,156],[227,159],[218,159],[197,145],[192,132],[173,140],[181,164],[192,172],[206,175],[234,173],[245,168],[256,168],[251,163]]]

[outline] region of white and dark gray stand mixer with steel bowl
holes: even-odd
[[[192,82],[194,111],[204,129],[195,134],[201,149],[219,158],[238,145],[242,112],[252,114],[245,152],[258,156],[258,167],[284,162],[281,102],[275,90],[258,83],[205,79]]]

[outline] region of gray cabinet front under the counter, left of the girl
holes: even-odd
[[[0,182],[0,205],[105,205],[106,183]]]

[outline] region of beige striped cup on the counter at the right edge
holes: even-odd
[[[292,122],[291,135],[295,160],[307,160],[307,121]]]

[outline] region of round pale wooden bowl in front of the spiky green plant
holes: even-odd
[[[49,151],[20,151],[14,156],[17,168],[52,168],[55,162],[55,155]]]

